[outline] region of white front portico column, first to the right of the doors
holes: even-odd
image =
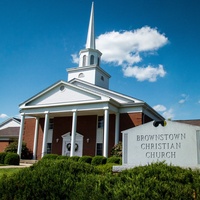
[[[103,156],[108,157],[108,139],[109,139],[109,110],[104,111],[104,138],[103,138]]]

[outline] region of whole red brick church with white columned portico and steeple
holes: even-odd
[[[20,104],[22,141],[33,159],[45,154],[108,157],[121,131],[164,118],[146,102],[109,89],[110,75],[101,68],[95,47],[92,4],[85,49],[79,65],[59,81]]]

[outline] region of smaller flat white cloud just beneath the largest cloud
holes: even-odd
[[[123,68],[123,73],[124,76],[134,77],[138,81],[148,80],[150,82],[155,82],[158,77],[164,77],[166,75],[166,71],[162,65],[159,65],[158,67],[153,67],[150,65],[147,67],[128,66]]]

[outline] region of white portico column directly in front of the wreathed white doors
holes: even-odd
[[[76,124],[77,124],[77,110],[73,110],[70,156],[74,156],[75,152]]]

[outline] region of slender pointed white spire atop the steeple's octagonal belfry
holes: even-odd
[[[88,35],[86,42],[86,49],[95,49],[95,36],[94,36],[94,2],[92,2],[92,8],[90,13],[90,22],[88,27]]]

